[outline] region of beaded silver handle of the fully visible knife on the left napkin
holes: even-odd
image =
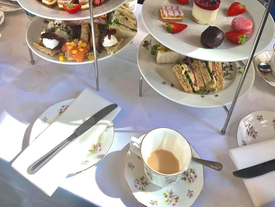
[[[40,157],[34,163],[28,167],[28,172],[30,174],[36,173],[41,167],[43,167],[48,161],[50,161],[57,153],[59,153],[64,147],[66,147],[71,141],[66,138],[63,142],[54,147],[44,156]]]

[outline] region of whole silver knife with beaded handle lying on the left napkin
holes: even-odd
[[[83,124],[81,124],[78,128],[76,128],[75,132],[63,140],[60,144],[58,144],[56,147],[54,147],[51,151],[49,151],[44,156],[40,157],[37,161],[32,163],[28,167],[28,172],[30,174],[36,173],[41,167],[43,167],[50,159],[52,159],[57,153],[59,153],[64,147],[66,147],[70,142],[78,138],[81,134],[86,132],[88,129],[90,129],[92,126],[94,126],[97,122],[99,122],[101,119],[103,119],[107,114],[112,112],[115,108],[117,108],[117,104],[111,104],[109,106],[106,106],[105,108],[101,109],[99,112],[91,116],[87,121],[85,121]]]

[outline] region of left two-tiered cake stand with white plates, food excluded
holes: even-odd
[[[105,0],[102,4],[94,6],[92,8],[92,0],[89,0],[89,7],[90,9],[84,10],[84,11],[78,11],[77,13],[70,14],[66,11],[60,11],[58,10],[58,7],[54,8],[48,8],[44,5],[42,5],[41,1],[34,1],[34,0],[19,0],[18,3],[27,11],[30,13],[33,13],[37,15],[38,17],[35,17],[30,25],[28,26],[27,33],[26,33],[26,40],[28,44],[28,49],[30,53],[31,63],[34,65],[35,60],[33,58],[32,52],[40,56],[41,58],[48,60],[53,63],[60,63],[60,64],[68,64],[68,65],[77,65],[77,64],[86,64],[86,63],[93,63],[95,67],[95,76],[96,76],[96,89],[99,90],[99,79],[98,79],[98,65],[97,60],[103,60],[105,58],[110,57],[111,55],[108,55],[106,51],[103,51],[97,56],[97,53],[94,52],[94,60],[84,60],[83,62],[59,62],[56,57],[50,57],[43,52],[38,51],[33,46],[34,37],[40,36],[40,33],[38,31],[41,30],[41,22],[42,18],[47,19],[54,19],[54,20],[81,20],[81,19],[89,19],[90,24],[92,26],[92,37],[93,42],[95,41],[95,31],[94,31],[94,17],[98,17],[100,15],[106,14],[110,11],[115,10],[120,5],[125,3],[126,0]],[[42,18],[41,18],[42,17]],[[37,32],[34,32],[36,31]],[[40,31],[41,32],[41,31]],[[133,37],[126,38],[124,45],[120,48],[119,51],[121,51],[123,48],[125,48],[129,43],[131,43]],[[93,44],[93,51],[96,50],[96,44]],[[119,52],[118,51],[118,52]]]

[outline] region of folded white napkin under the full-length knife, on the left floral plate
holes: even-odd
[[[91,129],[62,149],[35,174],[30,175],[27,171],[28,167],[70,136],[88,118],[110,104],[111,102],[89,89],[85,89],[66,111],[17,157],[11,167],[48,196],[51,196],[65,180],[68,172],[71,172],[71,167],[78,156],[79,146],[83,144],[91,145],[112,122],[121,108],[117,107],[105,116]]]

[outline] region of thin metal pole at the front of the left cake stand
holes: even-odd
[[[89,0],[89,7],[90,7],[90,24],[92,26],[92,37],[93,37],[93,50],[94,50],[94,67],[95,67],[95,79],[97,85],[97,91],[99,91],[99,81],[98,81],[98,68],[97,68],[97,46],[95,41],[95,27],[94,27],[94,16],[93,16],[93,5],[92,0]]]

